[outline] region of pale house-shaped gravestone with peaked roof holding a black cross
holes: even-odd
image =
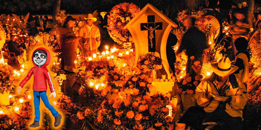
[[[169,64],[167,62],[166,44],[169,33],[173,27],[176,28],[177,24],[151,4],[147,4],[124,26],[124,29],[130,31],[135,44],[135,66],[137,65],[140,54],[156,51],[161,55],[161,59],[166,61],[163,67],[168,75],[168,79],[171,78]],[[148,30],[148,32],[146,32],[146,30]],[[153,38],[151,38],[152,34]],[[152,48],[151,41],[153,44]]]

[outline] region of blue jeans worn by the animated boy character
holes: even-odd
[[[34,97],[34,115],[35,115],[34,120],[35,121],[40,121],[40,109],[39,109],[40,97],[41,97],[42,101],[44,102],[45,107],[47,107],[51,111],[51,113],[54,117],[59,115],[59,113],[49,103],[48,97],[46,95],[46,91],[35,91],[35,90],[33,90],[33,97]]]

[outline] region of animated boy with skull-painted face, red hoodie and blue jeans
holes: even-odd
[[[34,82],[33,82],[33,96],[34,96],[34,109],[35,109],[35,118],[34,122],[30,127],[38,127],[39,121],[40,121],[40,97],[42,101],[44,102],[45,107],[47,107],[52,115],[55,117],[54,126],[57,127],[61,123],[62,116],[54,109],[53,106],[50,105],[48,101],[48,97],[46,95],[47,90],[47,83],[48,81],[49,88],[51,90],[51,95],[53,95],[55,98],[55,89],[54,85],[51,80],[51,76],[46,68],[46,66],[49,65],[51,60],[50,52],[46,50],[45,48],[38,48],[33,52],[32,55],[32,61],[35,67],[31,68],[28,72],[27,76],[23,81],[19,84],[19,88],[17,92],[20,94],[20,91],[22,90],[25,83],[31,78],[31,76],[34,74]],[[50,96],[51,96],[50,95]],[[50,97],[49,96],[49,97]]]

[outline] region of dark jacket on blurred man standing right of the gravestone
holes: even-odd
[[[188,58],[190,56],[200,57],[203,54],[203,50],[208,47],[206,34],[198,30],[197,27],[191,27],[184,34],[177,53],[186,50]]]

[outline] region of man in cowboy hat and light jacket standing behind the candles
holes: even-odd
[[[80,37],[79,46],[82,48],[82,56],[88,57],[97,53],[100,46],[100,30],[92,24],[97,21],[92,14],[88,14],[84,19],[86,23],[78,30],[78,37]]]

